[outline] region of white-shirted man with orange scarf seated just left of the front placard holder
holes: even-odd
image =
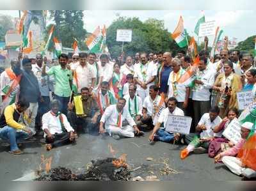
[[[142,115],[136,118],[140,130],[147,131],[154,127],[154,121],[165,107],[164,98],[158,95],[159,88],[155,85],[149,87],[149,96],[143,102]]]

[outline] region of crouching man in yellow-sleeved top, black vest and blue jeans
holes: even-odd
[[[29,122],[25,111],[29,107],[29,102],[20,100],[17,103],[7,106],[0,118],[0,138],[10,141],[11,150],[9,153],[14,155],[22,154],[17,142],[22,139],[28,139],[33,135],[31,130],[26,126]]]

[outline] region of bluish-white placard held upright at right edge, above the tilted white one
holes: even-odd
[[[253,102],[252,91],[241,91],[236,93],[238,108],[244,110]]]

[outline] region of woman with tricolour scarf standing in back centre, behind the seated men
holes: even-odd
[[[113,77],[112,77],[112,84],[113,84],[113,89],[114,89],[116,98],[123,97],[123,87],[125,83],[126,83],[126,75],[120,72],[120,66],[117,63],[115,63]]]

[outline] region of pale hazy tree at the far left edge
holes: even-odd
[[[7,15],[0,15],[0,42],[5,41],[6,31],[14,29],[14,22],[12,17]]]

